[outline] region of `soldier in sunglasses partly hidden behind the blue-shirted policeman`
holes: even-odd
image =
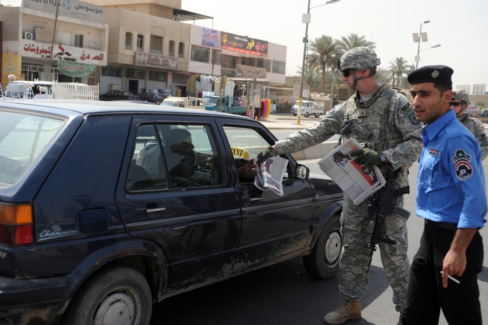
[[[452,91],[452,99],[449,102],[449,107],[454,109],[456,117],[459,122],[463,123],[468,130],[473,133],[476,140],[481,146],[481,159],[484,160],[488,155],[488,139],[485,131],[479,126],[478,123],[469,118],[469,114],[464,110],[468,107],[470,101],[468,93],[464,89],[454,89]]]

